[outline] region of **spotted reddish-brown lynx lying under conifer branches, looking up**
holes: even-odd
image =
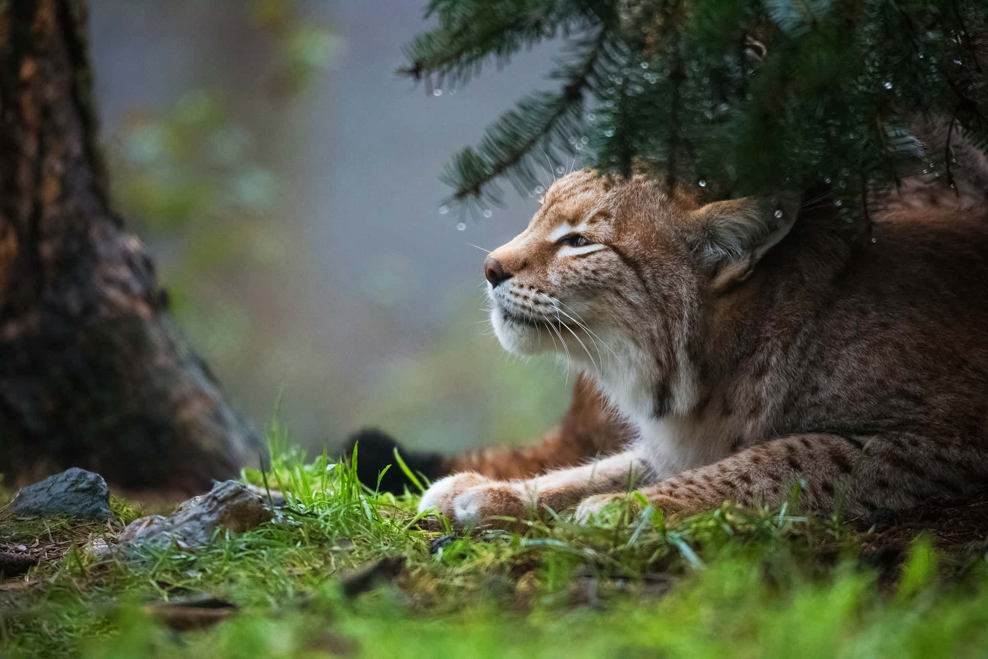
[[[584,373],[577,405],[616,453],[456,473],[421,510],[588,521],[636,489],[685,515],[781,504],[798,481],[808,506],[859,516],[984,490],[986,207],[900,203],[861,230],[819,202],[560,179],[484,263],[491,322],[506,350]]]

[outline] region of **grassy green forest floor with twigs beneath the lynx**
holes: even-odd
[[[198,551],[98,557],[109,524],[19,522],[41,563],[0,580],[0,656],[958,657],[988,648],[988,505],[908,524],[652,508],[580,527],[455,534],[276,449],[276,520]],[[359,458],[359,456],[358,456]],[[246,471],[261,485],[265,478]]]

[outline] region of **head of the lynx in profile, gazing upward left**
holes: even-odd
[[[484,262],[494,331],[509,352],[554,352],[595,374],[618,406],[686,411],[704,305],[748,278],[794,215],[791,203],[700,206],[645,176],[574,172]]]

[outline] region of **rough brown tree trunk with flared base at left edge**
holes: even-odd
[[[85,18],[0,0],[0,472],[202,490],[260,443],[110,207]]]

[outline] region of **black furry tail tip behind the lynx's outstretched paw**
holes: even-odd
[[[374,428],[358,431],[347,439],[343,455],[348,460],[354,454],[354,445],[358,447],[357,477],[371,489],[378,487],[378,474],[390,464],[391,468],[380,479],[379,490],[401,494],[405,487],[408,487],[409,491],[415,491],[415,485],[394,459],[395,449],[416,476],[424,474],[430,480],[435,480],[446,475],[443,472],[443,460],[439,453],[405,451],[390,435]],[[419,478],[421,480],[421,476]]]

